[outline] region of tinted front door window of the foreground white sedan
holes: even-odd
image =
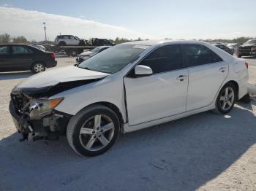
[[[153,74],[182,68],[181,48],[178,44],[159,47],[151,52],[140,65],[149,66]]]

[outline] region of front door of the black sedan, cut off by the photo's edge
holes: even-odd
[[[10,46],[0,46],[0,71],[10,71],[12,69],[12,60]]]

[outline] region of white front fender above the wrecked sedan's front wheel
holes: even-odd
[[[113,90],[113,87],[121,87]],[[80,87],[75,87],[63,93],[53,95],[51,98],[63,97],[65,101],[56,107],[60,112],[75,115],[85,106],[99,102],[114,104],[121,112],[124,121],[126,109],[124,104],[124,83],[118,80],[118,75],[110,75],[99,82],[90,83]]]

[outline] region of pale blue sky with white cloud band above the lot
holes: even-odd
[[[44,39],[233,39],[256,36],[256,0],[0,0],[0,34]]]

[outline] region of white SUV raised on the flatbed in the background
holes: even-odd
[[[84,39],[79,39],[78,36],[72,35],[59,35],[56,36],[54,40],[54,44],[59,46],[67,46],[67,45],[80,45],[83,46],[86,44]]]

